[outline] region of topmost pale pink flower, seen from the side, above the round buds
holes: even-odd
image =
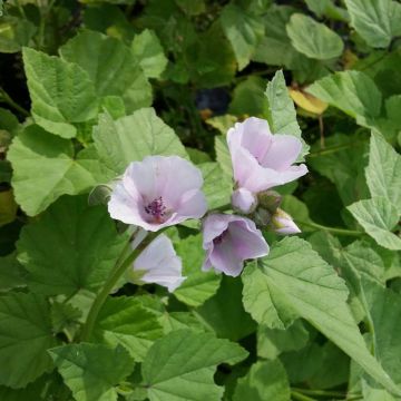
[[[256,194],[290,183],[307,173],[293,166],[302,143],[291,135],[273,135],[266,120],[251,117],[227,133],[236,186]]]

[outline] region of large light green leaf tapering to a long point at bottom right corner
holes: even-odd
[[[258,270],[252,265],[246,267],[247,275],[256,273],[253,281],[248,278],[248,283],[245,282],[245,288],[248,286],[251,292],[254,286],[254,300],[260,305],[260,315],[263,315],[263,302],[265,310],[276,309],[275,313],[280,315],[287,313],[285,306],[288,305],[290,312],[295,311],[307,320],[378,382],[401,394],[401,390],[368,351],[346,304],[345,283],[312,251],[310,244],[296,237],[286,237],[275,244],[270,255],[260,260],[258,264]],[[273,296],[268,291],[261,291],[256,286],[261,280],[275,290]],[[261,319],[256,320],[263,322]]]

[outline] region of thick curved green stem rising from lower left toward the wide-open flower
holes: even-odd
[[[141,233],[139,232],[138,234],[140,235]],[[137,257],[138,253],[140,252],[138,250],[138,246],[143,239],[145,239],[145,236],[143,236],[141,239],[137,242],[135,248],[131,251],[131,253],[128,255],[128,257],[123,263],[120,263],[120,258],[118,258],[115,270],[113,271],[110,277],[105,283],[101,291],[97,294],[97,296],[89,310],[88,317],[87,317],[86,323],[82,329],[81,341],[88,341],[90,339],[96,320],[98,317],[98,314],[99,314],[104,303],[107,300],[107,296],[110,294],[113,288],[118,283],[118,280],[124,275],[124,273],[127,271],[127,268],[133,264],[133,262]],[[123,250],[123,254],[125,252],[126,252],[126,247]]]

